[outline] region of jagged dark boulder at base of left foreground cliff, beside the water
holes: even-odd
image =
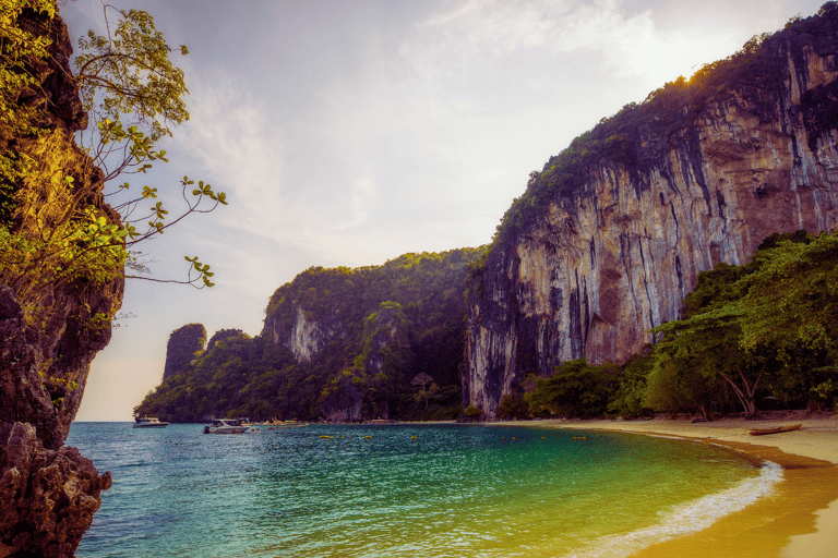
[[[45,449],[28,424],[3,424],[0,444],[0,556],[73,556],[110,473],[75,448]]]

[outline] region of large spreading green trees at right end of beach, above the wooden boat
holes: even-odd
[[[756,414],[764,385],[786,400],[800,393],[828,400],[837,280],[835,232],[775,234],[750,263],[699,274],[684,317],[655,328],[663,338],[655,348],[647,401],[658,409],[692,401],[707,416],[718,383],[732,389],[746,417]]]

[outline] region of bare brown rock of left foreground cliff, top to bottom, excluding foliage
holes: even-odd
[[[20,92],[17,102],[43,107],[41,133],[26,137],[0,130],[0,150],[25,154],[36,165],[4,192],[26,196],[36,215],[60,206],[52,187],[71,175],[76,184],[100,180],[100,171],[73,142],[87,125],[69,74],[72,47],[59,17],[24,10],[20,28],[51,40],[46,60],[31,60],[26,71],[38,87]],[[87,201],[100,216],[119,222],[101,192]],[[27,227],[26,219],[2,223]],[[9,269],[3,282],[14,283]],[[74,448],[62,447],[84,392],[91,362],[110,340],[111,316],[122,301],[121,277],[106,284],[86,281],[38,287],[35,313],[14,289],[0,284],[0,556],[73,556],[110,486]],[[27,312],[29,311],[29,312]],[[98,315],[98,316],[97,316]],[[33,319],[36,316],[37,319]]]

